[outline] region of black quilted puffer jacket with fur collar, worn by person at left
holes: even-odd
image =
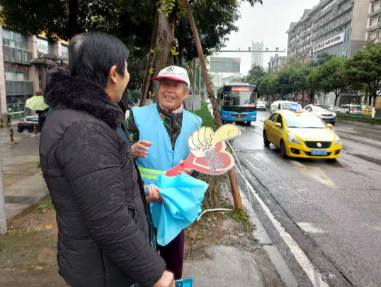
[[[103,89],[62,69],[47,75],[55,108],[40,137],[42,174],[57,210],[59,274],[73,287],[152,286],[165,269],[149,245],[144,189]]]

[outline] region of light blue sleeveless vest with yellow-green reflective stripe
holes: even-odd
[[[165,174],[167,170],[175,167],[181,159],[185,160],[189,155],[188,137],[195,130],[200,129],[202,120],[194,113],[183,110],[183,124],[181,133],[172,150],[171,139],[164,127],[164,123],[157,111],[157,104],[133,108],[135,124],[139,130],[139,140],[152,142],[147,157],[137,159],[137,166],[144,184],[157,184],[157,176]]]

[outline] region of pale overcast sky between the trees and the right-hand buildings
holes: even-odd
[[[263,0],[263,5],[250,6],[246,1],[241,4],[239,11],[241,19],[237,22],[239,31],[229,35],[227,47],[223,50],[247,50],[251,41],[261,42],[268,50],[287,50],[288,35],[285,33],[291,22],[297,22],[305,9],[319,3],[319,0]],[[266,67],[271,56],[275,53],[265,53],[263,66]],[[285,52],[280,55],[286,55]],[[251,68],[251,53],[235,52],[220,53],[219,57],[241,57],[241,73],[246,75]],[[229,75],[229,74],[227,74]]]

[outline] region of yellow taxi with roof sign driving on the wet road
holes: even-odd
[[[263,142],[279,147],[282,157],[336,159],[341,154],[340,137],[322,118],[292,104],[289,111],[277,111],[265,120]]]

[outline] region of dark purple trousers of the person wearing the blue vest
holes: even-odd
[[[175,280],[183,276],[184,244],[184,230],[181,230],[180,234],[166,246],[156,245],[160,256],[166,262],[166,270],[174,272]]]

